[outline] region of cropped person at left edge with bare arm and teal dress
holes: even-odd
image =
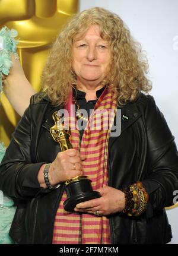
[[[30,97],[34,94],[34,90],[21,68],[20,61],[18,61],[14,55],[11,55],[11,58],[13,65],[8,77],[4,77],[3,90],[17,113],[23,115],[29,105]],[[0,162],[4,154],[4,144],[0,143]],[[12,239],[9,237],[8,233],[16,207],[11,198],[4,195],[2,200],[3,204],[1,204],[0,207],[0,244],[12,244]]]

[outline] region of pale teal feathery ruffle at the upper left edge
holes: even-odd
[[[0,93],[2,91],[2,74],[8,75],[12,67],[10,53],[16,53],[18,40],[15,37],[18,32],[15,29],[9,30],[7,27],[2,27],[0,30]]]

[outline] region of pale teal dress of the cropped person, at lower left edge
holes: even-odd
[[[4,154],[4,144],[0,143],[0,162]],[[13,244],[8,233],[15,214],[14,201],[9,197],[3,196],[2,191],[0,192],[0,244]]]

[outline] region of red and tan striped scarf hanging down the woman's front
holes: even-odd
[[[71,104],[72,93],[65,106],[69,112]],[[112,92],[106,87],[97,100],[82,135],[80,153],[81,156],[85,156],[82,162],[84,170],[82,175],[87,175],[91,179],[93,190],[108,184],[108,142],[116,106]],[[71,129],[71,137],[73,148],[78,150],[80,134],[76,128]],[[109,219],[106,216],[95,216],[89,213],[68,213],[63,209],[63,202],[66,199],[66,192],[64,192],[55,217],[53,244],[110,244]]]

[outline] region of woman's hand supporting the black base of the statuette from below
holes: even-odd
[[[125,208],[125,194],[112,187],[97,189],[101,197],[77,204],[75,211],[93,213],[97,215],[109,215],[122,211]]]

